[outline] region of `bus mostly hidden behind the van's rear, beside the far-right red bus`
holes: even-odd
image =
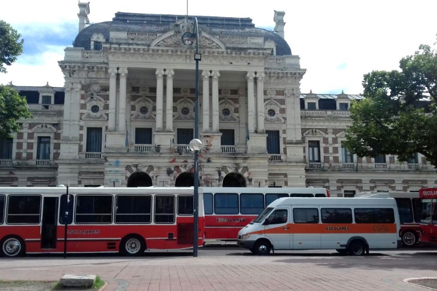
[[[410,247],[419,242],[422,202],[418,192],[362,192],[355,197],[394,198],[399,210],[402,244]]]

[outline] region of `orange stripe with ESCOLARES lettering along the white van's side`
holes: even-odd
[[[269,227],[269,226],[266,226]],[[284,229],[288,227],[288,229]],[[329,224],[329,223],[289,223],[286,226],[266,228],[248,232],[247,234],[286,234],[286,233],[397,233],[395,223],[359,223],[359,224]]]

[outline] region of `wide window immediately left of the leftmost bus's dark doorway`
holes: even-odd
[[[7,198],[6,223],[38,224],[41,214],[41,196],[9,195]]]

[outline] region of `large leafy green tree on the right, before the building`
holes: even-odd
[[[358,156],[423,154],[437,168],[437,51],[421,45],[400,71],[364,75],[364,100],[352,102],[346,147]]]

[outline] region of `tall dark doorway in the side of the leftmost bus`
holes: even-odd
[[[41,223],[41,248],[56,248],[56,222],[58,213],[58,197],[44,197],[43,219]]]

